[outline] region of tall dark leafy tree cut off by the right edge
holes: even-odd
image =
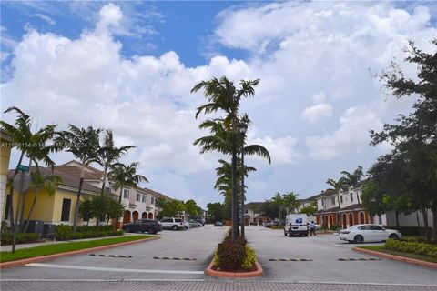
[[[432,44],[437,45],[437,38]],[[385,124],[381,132],[371,131],[371,144],[389,142],[394,147],[391,156],[406,161],[404,170],[408,179],[400,183],[408,187],[422,210],[425,236],[429,241],[428,208],[432,209],[434,226],[437,225],[437,50],[425,53],[410,41],[405,52],[404,61],[417,67],[415,78],[405,76],[395,62],[379,76],[389,94],[396,98],[414,98],[413,110],[409,115],[398,115],[397,123]],[[437,235],[437,227],[434,232]]]

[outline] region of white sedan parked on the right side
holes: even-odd
[[[399,239],[401,233],[395,229],[385,229],[376,225],[356,225],[340,230],[340,240],[361,244],[362,242],[382,242],[389,238]]]

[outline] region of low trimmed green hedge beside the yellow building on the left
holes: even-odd
[[[73,232],[73,227],[71,226],[59,225],[55,228],[55,237],[57,240],[122,236],[123,234],[123,230],[116,230],[114,226],[99,226],[98,232],[96,232],[96,226],[78,226],[76,233]]]

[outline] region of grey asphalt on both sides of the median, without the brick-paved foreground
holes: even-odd
[[[164,230],[158,240],[121,246],[41,264],[2,270],[2,280],[200,280],[222,281],[205,276],[214,248],[228,227],[204,226],[184,231]],[[246,227],[249,244],[256,250],[265,276],[245,282],[361,283],[437,286],[437,270],[389,259],[370,259],[354,252],[356,245],[338,236],[284,236],[282,230]],[[366,244],[368,245],[368,244]],[[186,260],[184,260],[184,258]],[[343,259],[343,260],[341,260]],[[344,260],[345,259],[345,260]],[[286,260],[286,261],[282,261]]]

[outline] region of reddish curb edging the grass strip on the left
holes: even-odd
[[[129,242],[123,242],[123,243],[107,245],[107,246],[96,246],[96,247],[91,247],[91,248],[84,248],[84,249],[79,249],[79,250],[76,250],[76,251],[65,252],[65,253],[58,253],[58,254],[47,255],[47,256],[36,256],[36,257],[24,258],[24,259],[21,259],[21,260],[15,260],[15,261],[10,261],[10,262],[0,263],[0,269],[5,269],[5,268],[8,268],[8,267],[15,267],[15,266],[23,266],[23,265],[30,264],[30,263],[36,263],[36,262],[43,262],[43,261],[53,260],[53,259],[64,257],[64,256],[81,255],[81,254],[91,253],[91,252],[100,251],[100,250],[104,250],[104,249],[108,249],[108,248],[113,248],[113,247],[117,247],[117,246],[128,246],[128,245],[133,245],[133,244],[145,242],[147,240],[155,240],[155,239],[158,239],[158,238],[160,238],[160,236],[147,237],[147,238],[144,238],[144,239],[137,239],[137,240],[132,240],[132,241],[129,241]]]

